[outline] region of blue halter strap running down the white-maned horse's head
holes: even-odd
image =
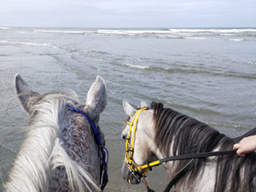
[[[84,117],[90,123],[90,126],[93,130],[93,133],[94,133],[96,143],[99,146],[98,155],[99,155],[100,160],[102,161],[102,164],[101,164],[101,180],[102,180],[101,189],[104,190],[104,188],[106,187],[106,185],[108,183],[108,149],[105,146],[102,145],[102,140],[101,140],[101,137],[100,137],[100,134],[101,134],[100,127],[99,126],[96,127],[96,125],[94,125],[94,123],[90,120],[90,118],[83,111],[81,111],[79,108],[73,108],[71,106],[67,106],[67,108],[72,109],[73,111],[76,111],[78,113],[83,114]],[[107,154],[107,160],[106,160],[106,154]],[[102,170],[103,170],[103,172],[102,172]]]

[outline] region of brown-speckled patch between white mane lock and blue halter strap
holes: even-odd
[[[97,183],[100,181],[100,160],[97,155],[97,144],[90,123],[80,113],[67,111],[67,118],[60,130],[62,147],[69,157],[78,162],[90,173]]]

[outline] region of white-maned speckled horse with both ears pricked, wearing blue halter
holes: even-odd
[[[96,77],[80,103],[74,93],[50,91],[43,95],[15,76],[15,92],[29,114],[28,133],[9,174],[5,189],[15,191],[101,191],[98,146],[90,123],[98,125],[107,105],[104,80]],[[104,136],[101,135],[102,141]]]

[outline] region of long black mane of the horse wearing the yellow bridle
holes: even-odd
[[[154,143],[164,156],[195,154],[208,152],[209,146],[220,133],[197,119],[178,113],[171,108],[164,108],[162,103],[152,102],[154,110]],[[250,134],[256,134],[256,130]],[[219,150],[231,150],[234,143],[242,137],[231,139],[222,137],[218,141]],[[217,147],[217,146],[216,146]],[[253,191],[256,188],[256,154],[247,154],[241,158],[235,155],[220,156],[217,160],[215,192],[218,191]],[[173,176],[183,170],[190,160],[174,162]],[[204,170],[207,160],[192,160],[185,179],[191,186],[195,177]],[[234,174],[234,175],[233,175]],[[215,176],[214,176],[215,177]],[[227,190],[228,189],[228,190]]]

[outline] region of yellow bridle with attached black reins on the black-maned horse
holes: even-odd
[[[126,137],[126,143],[125,143],[125,148],[126,148],[126,153],[125,153],[125,161],[126,161],[126,166],[129,168],[130,172],[134,175],[134,177],[137,178],[137,181],[139,181],[138,177],[143,177],[143,183],[145,184],[146,189],[148,192],[154,192],[153,189],[150,189],[148,187],[148,184],[145,181],[146,173],[149,171],[152,171],[153,166],[160,166],[162,163],[166,163],[169,161],[173,160],[192,160],[195,158],[206,158],[206,157],[211,157],[211,156],[220,156],[220,155],[229,155],[229,154],[236,154],[236,150],[227,150],[227,151],[213,151],[213,152],[204,152],[204,153],[197,153],[197,154],[182,154],[182,155],[177,155],[177,156],[171,156],[171,157],[166,157],[160,160],[155,160],[154,162],[148,162],[147,164],[143,166],[137,166],[137,164],[133,160],[133,149],[134,149],[134,137],[137,129],[137,121],[138,121],[138,116],[140,113],[143,112],[143,110],[148,110],[148,108],[141,108],[135,113],[133,116],[131,122],[127,121],[127,124],[130,125],[130,129],[128,132],[128,136]],[[133,134],[131,137],[131,128],[133,127]],[[224,134],[219,134],[217,137],[215,137],[214,141],[212,142],[211,146],[209,147],[210,150],[214,148],[217,144],[218,141],[222,138],[225,137]],[[190,164],[190,163],[189,163]],[[183,177],[188,171],[189,171],[189,164],[183,168],[183,170],[175,177],[172,178],[170,183],[167,185],[166,189],[164,192],[168,192],[172,189],[172,186],[177,183],[177,181]],[[143,174],[141,174],[140,170],[145,170]]]

